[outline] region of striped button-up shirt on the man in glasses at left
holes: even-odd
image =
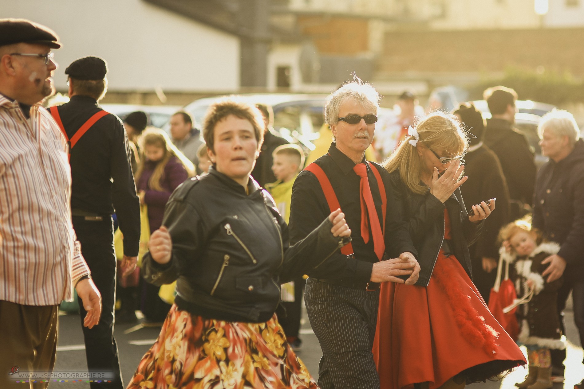
[[[0,300],[46,306],[72,301],[89,274],[71,223],[67,143],[34,104],[26,119],[0,94]]]

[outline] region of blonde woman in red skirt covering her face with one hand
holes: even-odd
[[[526,363],[471,281],[468,246],[495,201],[467,212],[459,189],[467,147],[456,117],[433,113],[384,163],[402,192],[421,271],[415,285],[381,285],[373,350],[381,387],[463,388]]]

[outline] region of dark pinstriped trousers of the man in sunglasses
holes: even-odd
[[[308,318],[321,344],[321,389],[379,389],[373,361],[379,292],[367,292],[308,278]]]

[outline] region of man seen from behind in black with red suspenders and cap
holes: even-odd
[[[140,240],[140,202],[130,164],[123,123],[99,106],[107,89],[107,64],[84,57],[65,69],[71,101],[49,111],[69,143],[71,213],[81,251],[102,295],[103,312],[95,327],[83,328],[89,371],[113,372],[112,383],[92,388],[122,388],[116,341],[113,337],[116,302],[116,257],[112,246],[112,213],[124,236],[120,277],[135,267]],[[81,304],[81,302],[79,302]]]

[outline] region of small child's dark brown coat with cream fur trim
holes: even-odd
[[[531,253],[529,258],[515,258],[513,255],[502,254],[507,261],[515,261],[517,296],[527,293],[526,281],[534,283],[534,295],[529,303],[517,308],[521,331],[519,341],[526,345],[538,345],[542,348],[563,349],[565,342],[560,339],[562,332],[558,317],[558,289],[564,283],[560,277],[554,282],[546,282],[541,273],[548,267],[541,261],[556,254],[559,246],[556,243],[542,243]]]

